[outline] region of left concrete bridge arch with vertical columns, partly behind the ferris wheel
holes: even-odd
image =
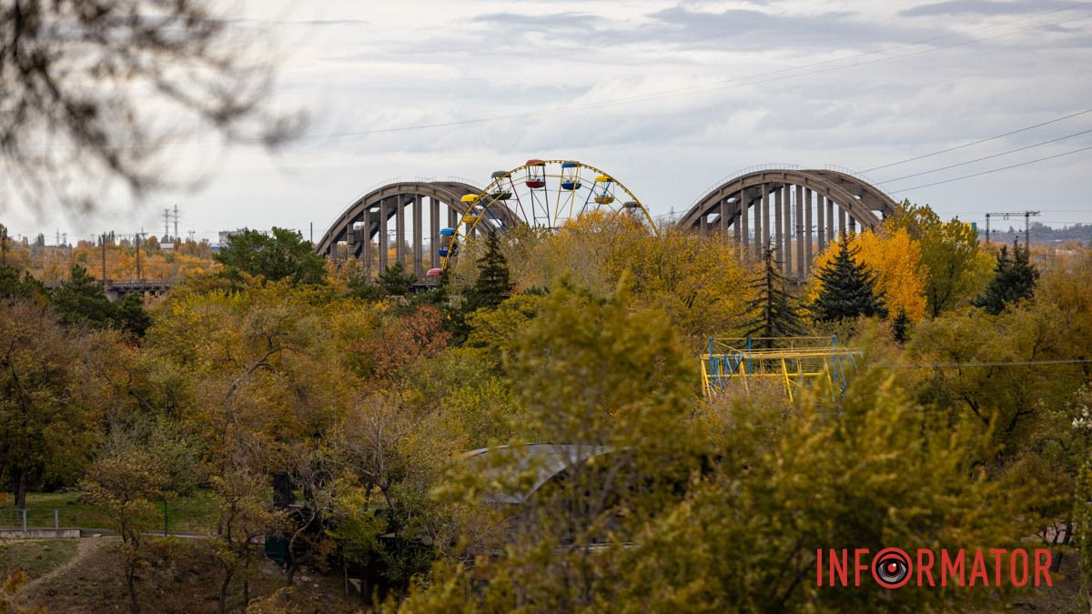
[[[391,234],[394,261],[418,279],[426,269],[438,268],[440,228],[454,226],[466,212],[465,194],[482,189],[464,181],[393,181],[361,196],[334,220],[316,245],[316,251],[329,258],[357,258],[365,273],[387,270],[390,262]],[[514,223],[513,216],[501,219]],[[375,241],[375,245],[373,245]],[[341,247],[344,246],[344,247]],[[372,250],[378,253],[373,258]],[[427,252],[427,256],[426,256]]]

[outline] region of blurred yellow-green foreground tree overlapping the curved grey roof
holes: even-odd
[[[518,334],[506,369],[562,476],[530,489],[502,557],[478,558],[474,574],[486,590],[452,593],[447,607],[470,600],[462,607],[601,610],[613,580],[598,553],[621,548],[696,467],[692,362],[662,311],[634,308],[628,283],[610,299],[555,286]],[[496,465],[471,465],[485,483],[470,492],[529,492],[525,474],[538,465],[523,449],[501,450]]]

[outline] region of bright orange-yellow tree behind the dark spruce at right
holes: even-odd
[[[818,271],[834,259],[835,247],[848,240],[851,249],[859,249],[858,262],[876,272],[877,292],[883,292],[883,302],[892,316],[900,309],[911,321],[925,317],[925,272],[922,269],[922,244],[911,238],[905,228],[870,231],[840,238],[816,258],[812,271]],[[814,303],[822,290],[822,282],[815,275],[805,290],[805,303]]]

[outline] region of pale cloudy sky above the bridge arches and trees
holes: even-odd
[[[174,170],[199,189],[138,203],[115,193],[82,219],[9,203],[13,234],[158,233],[177,204],[179,229],[199,239],[244,226],[307,237],[313,224],[317,240],[377,185],[485,185],[529,158],[603,168],[653,215],[684,213],[743,169],[793,164],[850,169],[980,225],[986,212],[1025,209],[1051,225],[1092,223],[1092,150],[1078,151],[1092,147],[1092,113],[1053,121],[1092,109],[1092,2],[219,7],[277,67],[271,95],[307,114],[302,138],[269,152],[194,137]]]

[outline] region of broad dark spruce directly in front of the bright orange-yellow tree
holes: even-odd
[[[887,317],[883,293],[876,293],[876,273],[864,262],[856,262],[858,251],[850,248],[843,233],[834,261],[816,273],[822,287],[818,298],[808,307],[816,322],[836,322],[860,316]]]

